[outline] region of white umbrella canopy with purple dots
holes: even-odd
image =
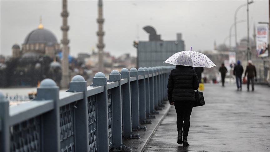
[[[164,61],[164,63],[204,68],[216,66],[206,55],[195,51],[181,51],[175,53]]]

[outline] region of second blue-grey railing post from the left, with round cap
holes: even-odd
[[[54,109],[42,114],[42,151],[60,151],[59,87],[52,79],[44,79],[37,88],[35,100],[53,100]]]

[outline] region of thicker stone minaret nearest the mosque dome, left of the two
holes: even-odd
[[[69,47],[68,47],[68,11],[67,11],[67,0],[63,0],[63,11],[61,16],[63,17],[63,26],[61,27],[63,31],[63,39],[61,40],[62,43],[62,81],[61,81],[61,88],[67,89],[69,85],[69,65],[68,65],[68,54],[69,54]]]

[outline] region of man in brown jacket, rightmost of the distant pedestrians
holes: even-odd
[[[252,65],[252,61],[248,60],[248,65],[245,71],[245,76],[247,75],[247,91],[249,91],[249,83],[251,81],[251,86],[252,86],[252,91],[254,91],[254,77],[255,77],[255,81],[257,81],[257,73],[256,73],[256,68],[254,65]]]

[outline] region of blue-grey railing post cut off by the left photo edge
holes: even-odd
[[[9,102],[0,92],[0,151],[10,150],[10,131],[9,131]]]

